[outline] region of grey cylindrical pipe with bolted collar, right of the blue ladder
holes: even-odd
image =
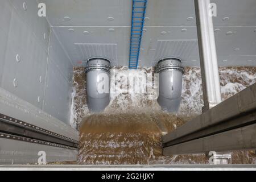
[[[176,113],[180,107],[182,75],[184,73],[181,60],[176,58],[162,59],[158,62],[155,73],[159,73],[158,104],[163,110]]]

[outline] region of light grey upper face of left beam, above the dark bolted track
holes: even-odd
[[[0,113],[74,140],[79,139],[79,133],[68,124],[2,88],[0,88]]]

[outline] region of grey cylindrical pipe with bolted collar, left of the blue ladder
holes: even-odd
[[[90,111],[103,111],[110,101],[110,61],[104,58],[93,58],[86,65],[86,95]]]

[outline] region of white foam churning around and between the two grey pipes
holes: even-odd
[[[141,87],[140,82],[135,82],[129,88],[129,94],[124,93],[123,89],[118,87],[118,81],[121,76],[138,76],[143,77],[146,73],[152,73],[152,68],[142,68],[138,70],[128,70],[127,67],[113,68],[114,74],[110,80],[110,104],[105,109],[104,113],[127,113],[127,112],[160,112],[161,108],[156,100],[148,100],[148,94],[131,92],[131,89]],[[220,68],[221,93],[225,100],[245,89],[256,82],[256,73],[247,68]],[[83,117],[89,115],[89,110],[86,105],[80,105],[78,111],[74,107],[74,98],[77,96],[77,84],[74,84],[72,93],[71,106],[71,125],[76,127],[78,115]],[[147,82],[147,86],[152,86],[152,82]],[[79,93],[82,94],[82,93]],[[79,95],[78,95],[79,97]],[[201,113],[203,107],[203,90],[201,87],[201,72],[200,68],[192,67],[185,68],[183,75],[183,90],[181,94],[181,105],[179,114],[182,115],[197,115]]]

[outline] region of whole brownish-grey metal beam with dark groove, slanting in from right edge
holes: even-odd
[[[174,132],[164,135],[164,150],[168,148],[168,152],[165,150],[164,154],[201,153],[209,149],[232,151],[256,148],[256,143],[247,136],[251,132],[251,137],[255,137],[251,130],[256,124],[255,93],[256,84],[185,123]],[[237,138],[235,134],[239,134],[239,131],[245,132],[240,135],[243,145],[240,142],[233,145]],[[190,144],[204,146],[192,148]]]

